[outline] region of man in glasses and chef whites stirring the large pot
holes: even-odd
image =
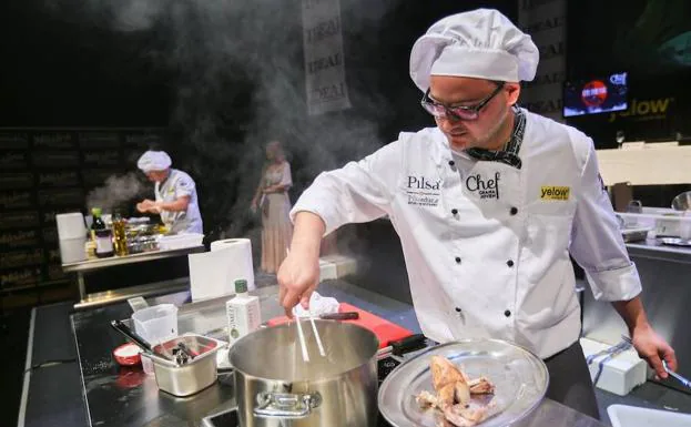
[[[433,24],[413,47],[410,77],[436,128],[317,176],[292,211],[281,302],[308,304],[323,235],[388,215],[425,335],[525,346],[546,360],[548,397],[599,418],[569,253],[657,374],[667,377],[661,359],[674,369],[677,360],[647,321],[592,140],[517,104],[538,59],[496,10]]]

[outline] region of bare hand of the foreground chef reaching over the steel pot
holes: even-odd
[[[319,282],[319,256],[304,251],[291,251],[278,268],[278,301],[288,317],[298,303],[309,308],[309,297]]]

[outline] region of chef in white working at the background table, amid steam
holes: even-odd
[[[154,182],[155,201],[143,200],[136,204],[142,213],[161,215],[170,233],[203,233],[194,180],[186,173],[171,167],[165,151],[148,151],[136,165]]]

